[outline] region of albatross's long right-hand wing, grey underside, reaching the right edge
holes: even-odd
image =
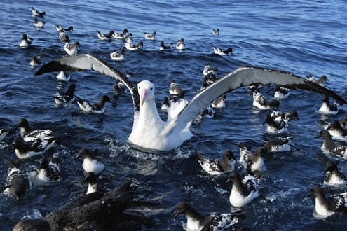
[[[179,113],[177,118],[171,120],[167,127],[165,127],[163,133],[169,134],[173,130],[184,130],[184,127],[194,120],[199,113],[204,111],[208,104],[222,94],[236,90],[238,87],[257,83],[262,85],[274,83],[291,89],[311,90],[332,97],[341,104],[347,104],[346,100],[342,99],[331,90],[316,83],[312,83],[305,78],[295,76],[292,73],[246,66],[240,67],[226,76],[219,78],[215,83],[212,83],[212,85],[198,92],[198,94],[191,99],[191,102]]]

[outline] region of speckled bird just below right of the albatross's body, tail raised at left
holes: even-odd
[[[220,175],[225,172],[233,172],[235,169],[236,158],[231,150],[225,150],[222,159],[208,159],[205,155],[196,152],[196,158],[200,166],[210,175]],[[235,160],[232,161],[231,159]]]

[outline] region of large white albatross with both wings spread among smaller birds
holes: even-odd
[[[226,92],[236,90],[251,84],[261,83],[268,85],[274,83],[292,89],[312,90],[320,94],[333,97],[342,104],[347,102],[339,95],[306,78],[295,76],[292,73],[274,69],[264,69],[247,66],[240,67],[226,76],[219,78],[215,83],[200,90],[189,104],[177,116],[168,121],[161,120],[154,100],[154,84],[149,80],[142,80],[137,85],[125,77],[106,62],[97,59],[94,55],[73,55],[53,60],[41,66],[35,76],[53,71],[85,71],[93,70],[106,76],[120,80],[132,94],[134,105],[134,121],[132,132],[128,138],[135,148],[144,151],[171,151],[190,139],[191,122],[203,112],[213,100]]]

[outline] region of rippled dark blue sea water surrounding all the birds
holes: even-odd
[[[191,99],[198,92],[204,64],[218,68],[217,77],[239,66],[264,66],[290,71],[299,76],[325,74],[325,87],[347,99],[347,10],[346,1],[0,1],[0,128],[13,127],[27,118],[35,129],[50,128],[62,137],[62,146],[45,155],[58,155],[62,180],[48,186],[32,186],[15,200],[0,194],[0,230],[12,230],[22,218],[46,216],[76,197],[86,193],[82,160],[76,159],[80,148],[89,148],[103,158],[107,166],[100,179],[104,188],[115,188],[124,179],[136,179],[138,198],[158,206],[142,210],[154,219],[147,230],[182,230],[186,218],[172,218],[172,208],[181,201],[191,202],[200,212],[231,211],[231,184],[226,176],[209,176],[193,158],[199,151],[210,158],[220,158],[231,149],[239,157],[235,144],[244,141],[253,150],[262,146],[263,118],[266,111],[252,108],[252,92],[242,87],[227,95],[227,106],[215,118],[205,118],[192,125],[193,138],[168,153],[142,153],[129,146],[132,129],[130,94],[115,97],[114,79],[93,71],[72,73],[70,83],[57,81],[57,73],[34,76],[38,70],[29,66],[33,55],[43,63],[66,55],[58,40],[55,25],[73,25],[72,42],[79,41],[79,53],[91,53],[119,71],[130,71],[133,80],[151,80],[156,84],[156,102],[161,106],[168,96],[170,80],[175,79]],[[30,7],[45,11],[46,25],[36,29]],[[96,30],[107,33],[127,28],[135,42],[143,41],[142,50],[127,51],[124,62],[114,62],[110,52],[123,47],[118,40],[100,41]],[[219,36],[212,29],[219,28]],[[144,40],[144,31],[156,31],[156,40]],[[19,48],[22,34],[34,38],[29,48]],[[184,38],[186,50],[158,50],[160,41],[176,43]],[[233,55],[213,54],[213,46],[233,48]],[[76,84],[76,95],[96,102],[102,94],[111,97],[102,115],[81,113],[74,106],[56,106],[53,95]],[[261,88],[269,99],[273,87]],[[314,201],[306,195],[318,184],[327,193],[341,193],[346,187],[327,187],[321,130],[318,120],[339,120],[346,107],[335,116],[321,116],[318,109],[323,96],[304,90],[292,90],[280,101],[281,111],[297,110],[288,134],[295,148],[285,153],[266,155],[267,172],[261,179],[260,197],[243,210],[245,219],[230,230],[341,230],[344,215],[326,219],[313,216]],[[165,113],[162,113],[163,118]],[[16,162],[29,171],[39,165],[40,157],[18,160],[9,134],[0,143],[0,157]],[[347,172],[347,163],[339,167]],[[0,161],[0,186],[6,182],[7,168]]]

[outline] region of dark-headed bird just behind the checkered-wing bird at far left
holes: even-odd
[[[48,139],[52,138],[52,130],[44,129],[44,130],[32,130],[29,122],[26,118],[21,118],[18,121],[18,124],[15,126],[16,129],[20,128],[20,137],[24,141],[33,141],[35,139]]]

